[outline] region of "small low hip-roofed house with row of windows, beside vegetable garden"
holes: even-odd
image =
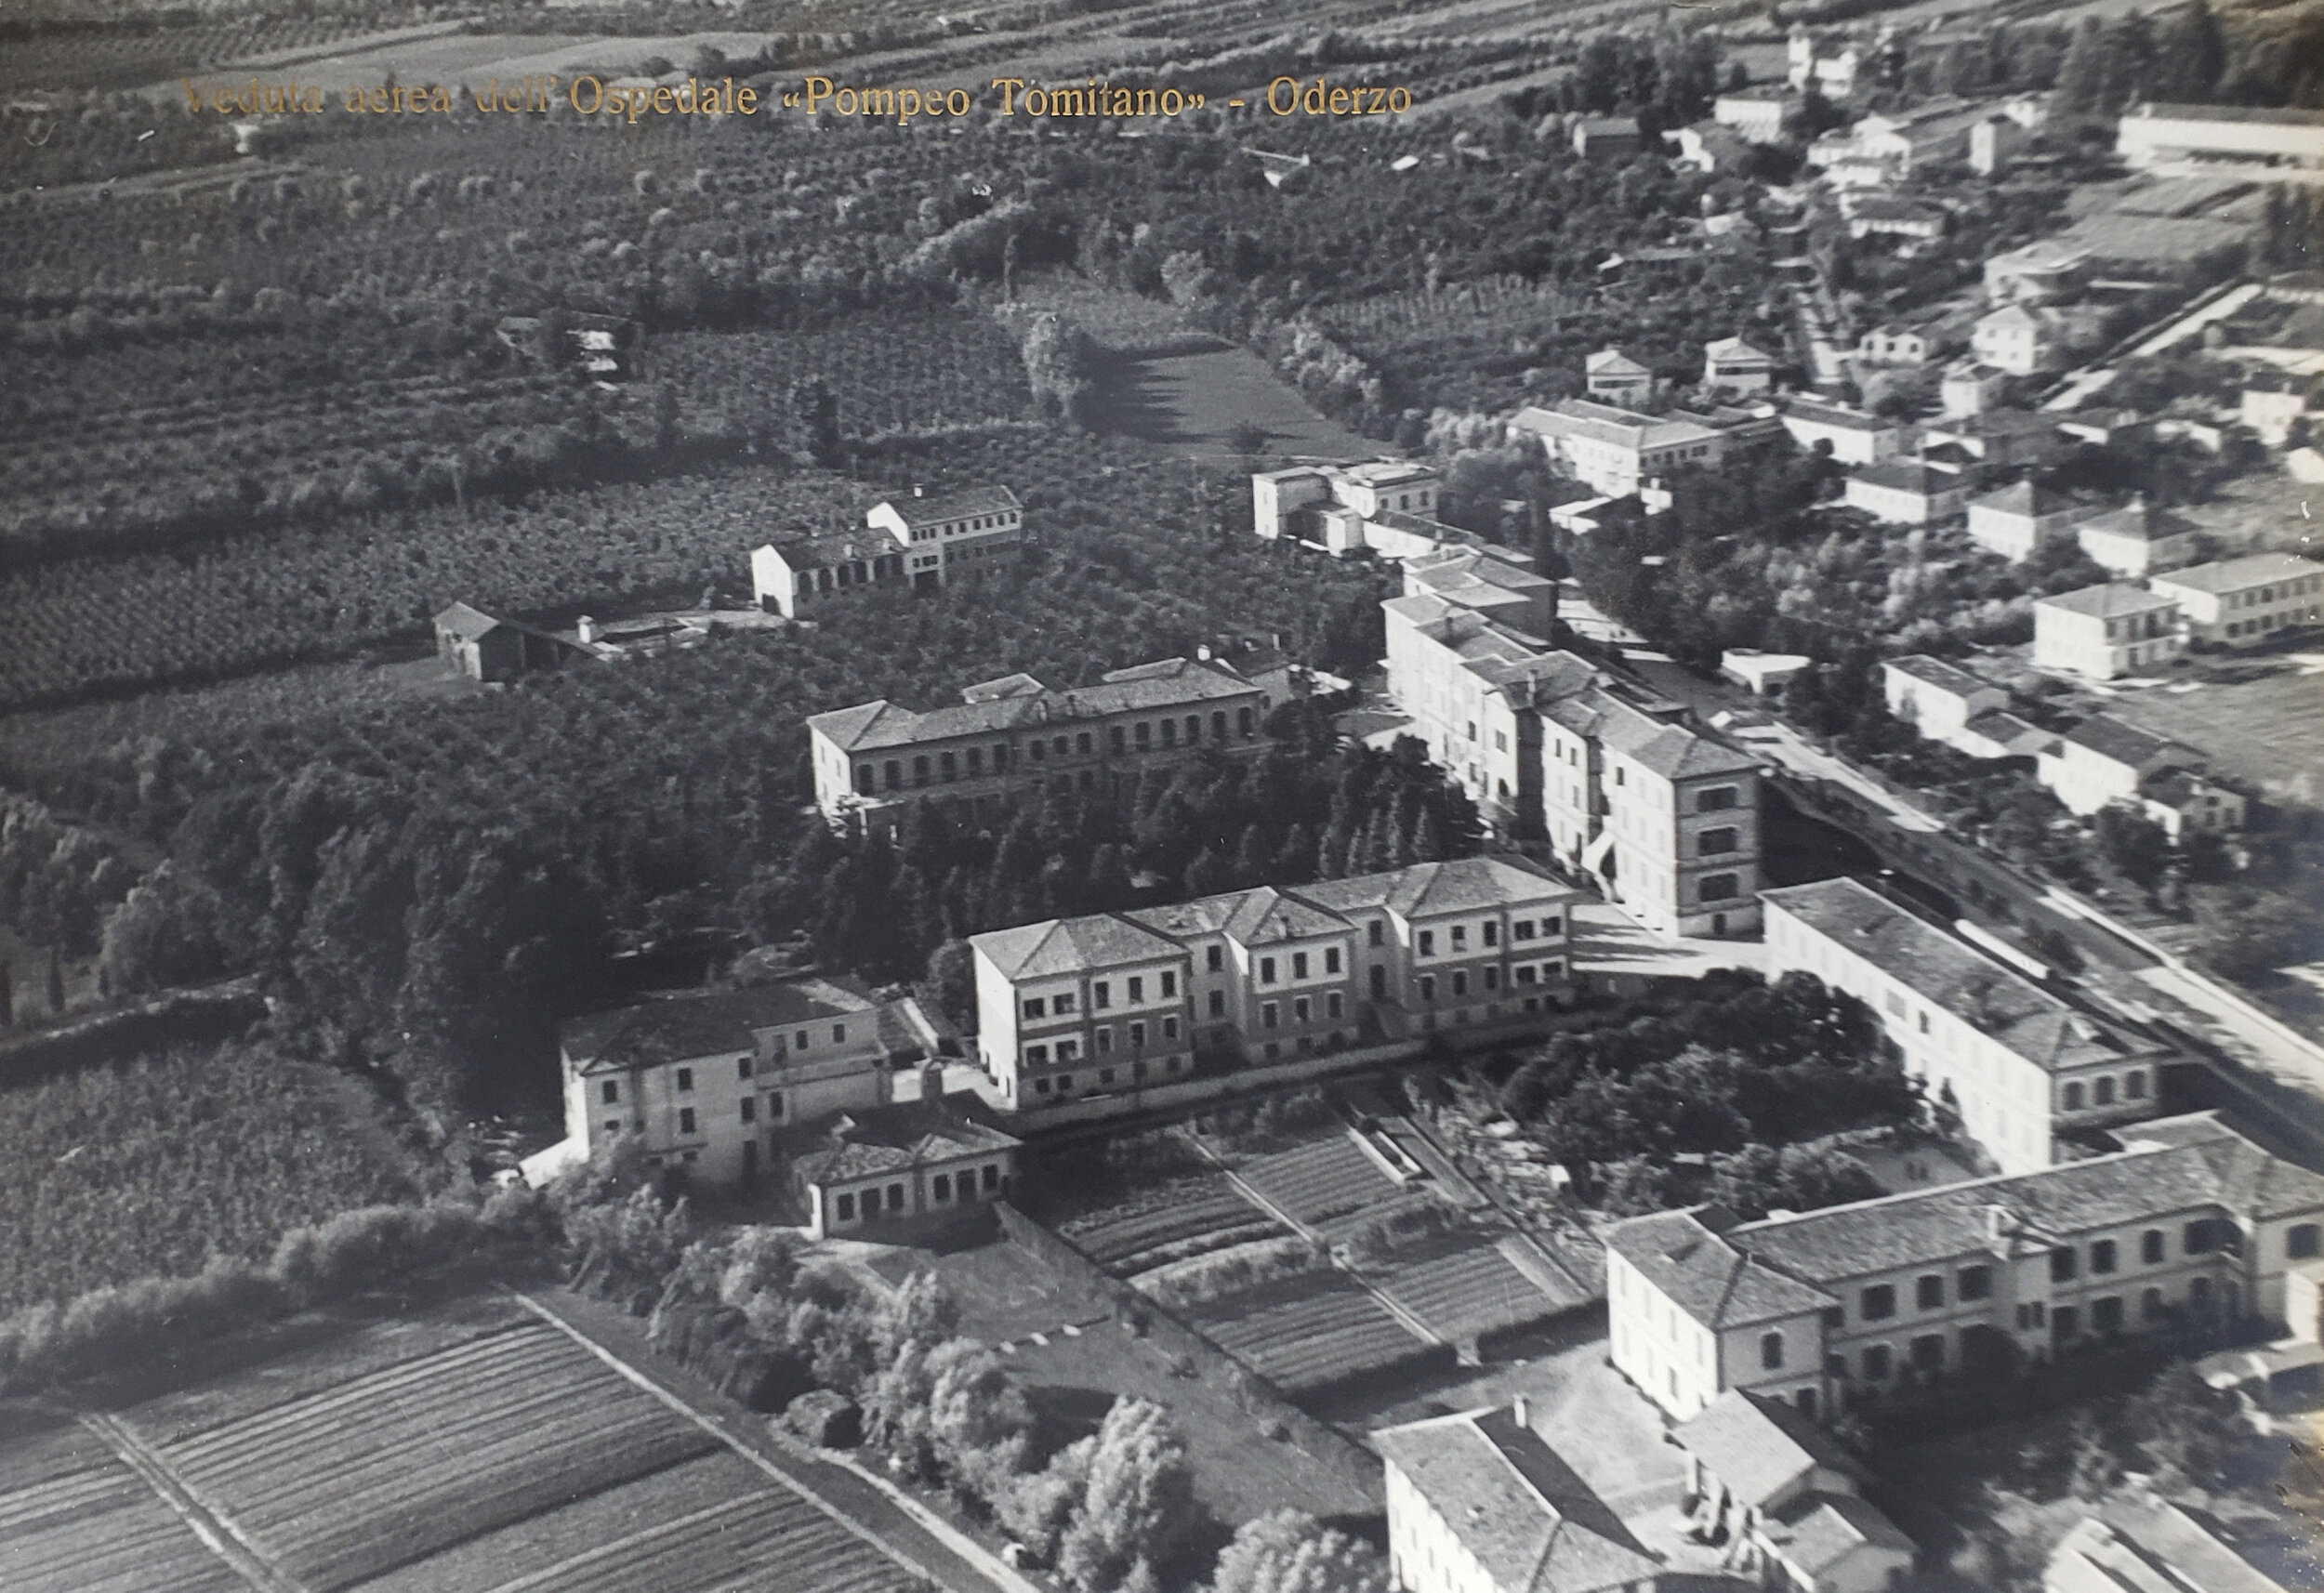
[[[790,1154],[806,1238],[974,1212],[1016,1194],[1020,1140],[932,1101],[841,1112]]]

